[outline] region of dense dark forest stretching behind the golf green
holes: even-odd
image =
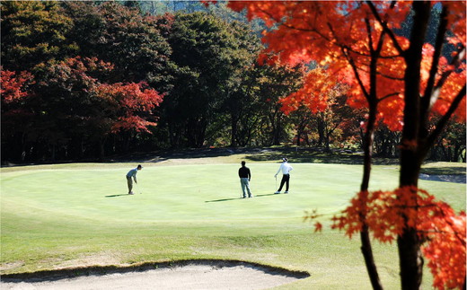
[[[281,100],[317,65],[259,62],[268,28],[223,3],[12,1],[1,13],[2,163],[361,146],[366,111],[348,107],[348,88],[338,83],[324,111],[287,113]],[[465,162],[465,132],[451,121],[429,159]],[[374,154],[397,157],[400,139],[378,124]]]

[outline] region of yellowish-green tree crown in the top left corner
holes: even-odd
[[[2,66],[30,70],[50,59],[63,59],[76,46],[66,40],[72,20],[54,1],[5,1],[2,12]]]

